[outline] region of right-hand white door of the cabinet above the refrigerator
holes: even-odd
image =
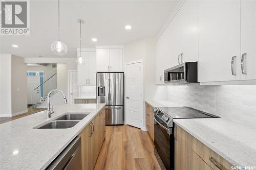
[[[110,49],[110,71],[123,71],[122,49]]]

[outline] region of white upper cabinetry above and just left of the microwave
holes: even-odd
[[[163,84],[164,70],[180,59],[198,61],[197,26],[197,1],[186,1],[156,41],[156,84]]]

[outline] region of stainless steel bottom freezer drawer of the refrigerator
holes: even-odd
[[[106,106],[106,125],[123,125],[123,106]]]

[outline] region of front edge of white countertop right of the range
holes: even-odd
[[[218,149],[214,148],[210,143],[206,142],[205,140],[203,140],[202,138],[200,138],[199,136],[197,136],[195,133],[191,132],[190,130],[188,130],[187,128],[185,128],[182,124],[178,123],[176,120],[174,120],[174,123],[176,125],[178,125],[179,127],[181,127],[183,130],[185,130],[187,133],[189,133],[190,135],[192,135],[193,137],[195,137],[196,139],[198,139],[200,142],[202,142],[203,144],[205,144],[208,148],[210,148],[212,151],[216,152],[217,154],[219,154],[221,157],[223,157],[224,159],[226,159],[228,162],[230,162],[231,164],[233,164],[234,166],[242,166],[239,163],[237,163],[236,161],[230,159],[226,154],[222,153],[221,151],[219,151]]]

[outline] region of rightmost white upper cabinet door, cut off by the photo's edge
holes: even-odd
[[[241,1],[241,53],[246,53],[242,80],[256,79],[256,1]],[[242,57],[242,56],[241,56]]]

